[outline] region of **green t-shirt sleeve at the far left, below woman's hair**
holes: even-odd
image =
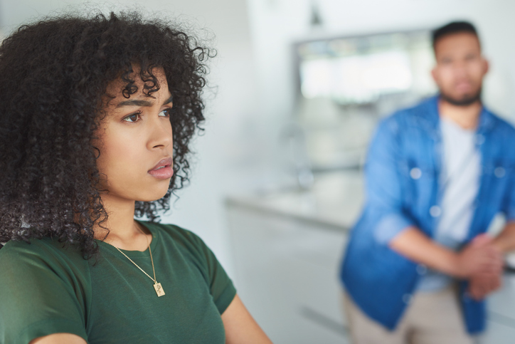
[[[50,252],[23,242],[0,249],[0,343],[27,344],[52,333],[87,340],[78,278]]]

